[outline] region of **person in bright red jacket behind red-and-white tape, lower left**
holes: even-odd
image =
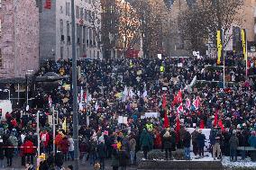
[[[35,147],[32,143],[32,139],[25,139],[23,143],[23,154],[27,158],[27,163],[33,165],[33,156],[35,152]]]

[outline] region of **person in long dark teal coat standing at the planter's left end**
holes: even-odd
[[[141,148],[144,154],[144,158],[148,159],[148,152],[151,150],[153,145],[153,139],[149,132],[146,129],[142,130],[141,139],[140,139]]]

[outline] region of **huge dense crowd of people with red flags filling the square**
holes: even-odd
[[[191,159],[190,149],[198,158],[205,157],[204,129],[211,129],[209,138],[213,159],[230,156],[237,160],[239,147],[256,148],[256,85],[251,60],[248,78],[245,67],[236,58],[229,63],[232,83],[220,85],[222,71],[215,68],[213,58],[163,59],[87,59],[78,61],[78,134],[79,156],[96,168],[105,169],[110,159],[113,169],[136,164],[136,153],[145,159],[152,149],[172,152],[184,149],[184,158]],[[72,124],[71,61],[46,61],[36,76],[54,72],[62,79],[54,88],[36,85],[34,107],[6,113],[0,124],[0,166],[12,166],[14,155],[22,157],[22,166],[33,164],[36,148],[47,154],[40,169],[57,167],[74,160]],[[211,65],[211,69],[207,65]],[[193,79],[207,83],[195,82]],[[212,84],[211,81],[220,81]],[[53,141],[50,106],[58,112],[56,138]],[[40,141],[37,142],[36,112],[40,111]],[[145,112],[158,112],[145,117]],[[123,116],[126,121],[119,121]],[[51,117],[52,118],[52,117]],[[87,124],[89,122],[89,124]],[[194,128],[190,133],[187,129]],[[53,143],[56,153],[53,153]],[[191,145],[192,143],[192,145]],[[250,154],[250,153],[249,153]],[[245,150],[239,155],[248,157]],[[5,157],[4,157],[5,156]],[[69,167],[71,169],[72,167]]]

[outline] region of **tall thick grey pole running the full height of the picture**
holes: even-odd
[[[74,158],[75,170],[79,169],[78,157],[78,82],[77,82],[77,56],[76,56],[76,20],[75,20],[75,0],[71,0],[72,17],[72,91],[73,91],[73,138],[74,138]]]

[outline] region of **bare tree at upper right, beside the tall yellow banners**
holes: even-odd
[[[187,8],[179,17],[180,30],[186,40],[190,42],[190,49],[202,49],[207,41],[215,48],[216,31],[223,29],[224,47],[231,39],[228,32],[233,23],[240,24],[238,15],[242,7],[241,0],[198,0]]]

